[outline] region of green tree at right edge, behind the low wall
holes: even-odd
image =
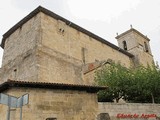
[[[160,72],[156,66],[139,66],[132,71],[133,92],[128,93],[128,100],[133,102],[159,102]],[[134,96],[133,96],[134,95]],[[156,100],[156,101],[155,101]]]

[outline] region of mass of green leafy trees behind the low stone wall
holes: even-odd
[[[108,86],[98,93],[101,102],[160,103],[160,69],[155,65],[127,69],[112,63],[96,72],[95,81]]]

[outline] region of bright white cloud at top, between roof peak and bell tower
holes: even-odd
[[[68,0],[68,7],[76,18],[110,21],[139,3],[140,0]]]

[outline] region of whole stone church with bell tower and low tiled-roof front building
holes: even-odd
[[[96,120],[94,71],[114,61],[125,67],[151,65],[150,39],[134,28],[117,35],[118,46],[41,6],[4,35],[0,92],[29,94],[23,120]],[[10,119],[19,120],[19,108]],[[7,106],[0,104],[0,120]]]

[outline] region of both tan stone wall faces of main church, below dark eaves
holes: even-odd
[[[83,65],[108,59],[132,65],[129,56],[40,12],[6,39],[0,83],[14,79],[92,84],[94,74],[85,77]]]

